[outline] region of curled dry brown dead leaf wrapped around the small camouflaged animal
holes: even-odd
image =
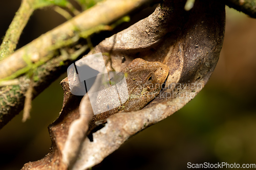
[[[63,161],[70,152],[63,148],[72,132],[74,120],[87,112],[88,100],[70,94],[68,80],[61,82],[64,102],[59,118],[49,126],[52,148],[49,154],[23,169],[88,169],[100,163],[139,131],[182,108],[203,88],[217,64],[224,39],[225,5],[214,0],[198,0],[190,11],[186,1],[164,1],[155,12],[130,28],[102,41],[93,53],[109,53],[112,67],[122,70],[135,58],[159,61],[169,67],[165,88],[145,108],[117,113],[106,119],[105,126],[92,134],[84,134],[76,159]],[[108,57],[104,58],[106,61]],[[107,65],[110,68],[110,65]],[[81,101],[81,102],[80,102]],[[83,125],[84,126],[84,125]],[[77,126],[77,129],[83,128]],[[75,132],[73,132],[75,133]],[[73,139],[74,140],[74,139]],[[72,153],[74,154],[74,153]],[[74,157],[70,157],[74,158]]]

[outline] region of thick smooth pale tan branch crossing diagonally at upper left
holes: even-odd
[[[17,70],[26,67],[27,63],[24,58],[27,58],[31,62],[38,62],[54,50],[78,41],[81,32],[99,25],[108,25],[142,4],[149,2],[151,1],[109,0],[84,11],[80,15],[20,48],[5,60],[0,61],[0,79],[11,76]]]

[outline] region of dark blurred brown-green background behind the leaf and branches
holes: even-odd
[[[20,1],[0,2],[4,37]],[[256,19],[226,8],[226,33],[219,62],[202,91],[172,116],[147,128],[93,169],[186,169],[191,163],[256,163]],[[21,47],[65,19],[52,8],[37,10]],[[20,169],[44,157],[47,126],[61,110],[63,74],[34,101],[31,119],[22,112],[0,130],[0,169]]]

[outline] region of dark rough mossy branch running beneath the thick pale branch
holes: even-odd
[[[34,82],[33,98],[56,80],[73,61],[63,56],[52,59],[35,71],[39,81]],[[65,63],[65,64],[62,64]],[[29,86],[27,76],[20,77],[19,85],[5,86],[0,91],[0,129],[3,128],[24,107],[25,93]]]

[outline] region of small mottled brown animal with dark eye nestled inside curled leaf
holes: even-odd
[[[117,108],[94,115],[90,127],[92,128],[96,121],[103,120],[112,114],[137,111],[145,107],[159,94],[168,71],[167,65],[160,62],[148,62],[141,58],[133,60],[121,71],[126,75],[129,99]]]

